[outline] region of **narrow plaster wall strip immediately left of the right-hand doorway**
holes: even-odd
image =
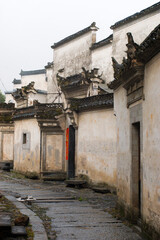
[[[122,87],[114,93],[114,112],[116,114],[117,135],[117,176],[118,196],[130,204],[130,116],[127,108],[126,90]]]

